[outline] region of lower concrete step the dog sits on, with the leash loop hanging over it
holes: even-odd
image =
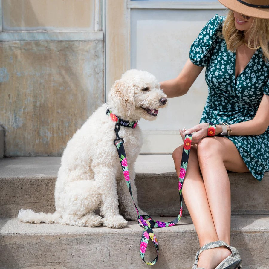
[[[109,229],[2,218],[0,231],[0,268],[149,268],[139,256],[143,229],[133,221],[123,229]],[[190,217],[155,233],[160,256],[154,268],[192,267],[199,244]],[[244,269],[268,268],[268,242],[268,215],[232,216],[231,244],[238,249]],[[148,260],[150,256],[155,257],[153,247],[146,252]]]

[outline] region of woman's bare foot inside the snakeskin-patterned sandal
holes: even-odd
[[[198,260],[198,266],[205,269],[216,268],[225,258],[231,254],[226,247],[217,247],[204,250]]]

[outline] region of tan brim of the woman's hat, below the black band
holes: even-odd
[[[218,0],[218,1],[228,9],[236,11],[240,14],[249,17],[269,19],[269,8],[249,7],[235,0]]]

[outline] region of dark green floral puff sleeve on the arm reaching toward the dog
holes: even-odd
[[[212,45],[221,31],[224,17],[215,15],[201,30],[194,40],[189,51],[189,59],[198,66],[207,66],[212,56]]]

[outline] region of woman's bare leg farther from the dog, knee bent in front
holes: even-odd
[[[197,155],[218,239],[230,244],[230,181],[226,169],[247,172],[247,166],[233,142],[225,137],[203,138],[197,145]],[[219,252],[218,249],[201,253],[198,265],[212,268],[209,262]]]

